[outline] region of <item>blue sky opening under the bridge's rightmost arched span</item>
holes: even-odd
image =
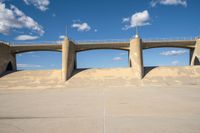
[[[190,51],[186,48],[150,48],[143,51],[144,67],[189,66]]]

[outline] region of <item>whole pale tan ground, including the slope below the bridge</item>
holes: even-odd
[[[0,78],[0,133],[200,133],[200,67],[17,71]]]

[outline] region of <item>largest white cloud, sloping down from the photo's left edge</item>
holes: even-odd
[[[26,16],[14,5],[6,8],[4,3],[0,2],[0,33],[7,35],[11,30],[27,28],[37,32],[40,35],[44,34],[43,28],[31,17]]]

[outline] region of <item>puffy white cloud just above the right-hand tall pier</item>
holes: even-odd
[[[130,18],[123,18],[123,23],[126,24],[122,29],[127,30],[129,28],[137,27],[137,26],[145,26],[149,25],[150,15],[147,10],[144,10],[142,12],[137,12],[133,14]]]

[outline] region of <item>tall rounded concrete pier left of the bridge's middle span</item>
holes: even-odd
[[[73,74],[75,68],[75,45],[68,38],[62,44],[62,80],[67,81]]]

